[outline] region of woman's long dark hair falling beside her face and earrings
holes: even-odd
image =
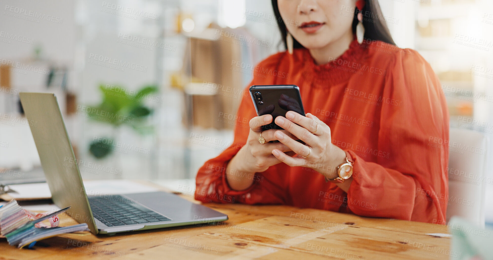
[[[274,15],[276,15],[276,21],[279,25],[279,30],[281,31],[281,39],[284,43],[284,47],[287,49],[286,44],[286,25],[282,20],[281,13],[279,13],[278,0],[272,0],[272,8],[274,9]],[[358,19],[356,18],[358,10],[354,6],[354,16],[352,19],[352,33],[356,32],[356,25],[358,24]],[[378,4],[378,0],[366,0],[365,7],[362,10],[363,14],[363,26],[365,27],[364,38],[369,40],[380,40],[387,42],[389,44],[395,45],[386,22],[384,21],[384,15]],[[293,38],[293,48],[304,48],[295,38]]]

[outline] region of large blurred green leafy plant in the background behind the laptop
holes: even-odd
[[[88,117],[111,124],[114,129],[128,125],[141,135],[152,133],[153,126],[147,124],[147,117],[152,113],[152,109],[144,105],[144,98],[157,92],[157,86],[144,86],[136,92],[127,91],[120,86],[107,86],[99,86],[103,100],[97,106],[88,107]],[[90,144],[89,152],[96,158],[104,158],[111,153],[111,144],[114,144],[111,138],[96,140]]]

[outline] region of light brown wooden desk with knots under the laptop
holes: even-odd
[[[193,200],[190,196],[186,199]],[[224,223],[94,236],[66,234],[31,250],[0,239],[0,259],[449,259],[447,227],[290,206],[205,204]],[[73,223],[67,216],[63,224]],[[434,233],[434,234],[430,234]]]

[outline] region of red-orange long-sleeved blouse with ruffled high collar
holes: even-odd
[[[346,193],[316,171],[284,163],[256,173],[253,184],[228,186],[229,160],[246,143],[256,116],[248,88],[237,114],[234,143],[207,161],[196,179],[204,202],[284,204],[428,223],[445,221],[448,203],[449,113],[437,76],[412,49],[373,41],[316,65],[307,49],[260,62],[250,85],[299,86],[305,112],[331,129],[349,151],[353,181]],[[243,120],[247,118],[247,120]]]

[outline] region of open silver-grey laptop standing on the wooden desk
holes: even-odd
[[[57,99],[20,93],[53,202],[93,234],[213,223],[228,216],[167,192],[87,196]],[[35,123],[34,123],[35,122]]]

